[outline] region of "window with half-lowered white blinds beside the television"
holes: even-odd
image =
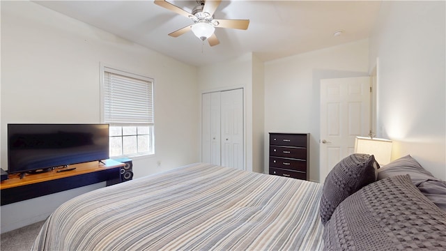
[[[110,157],[155,153],[153,79],[102,66],[102,122],[110,124]]]

